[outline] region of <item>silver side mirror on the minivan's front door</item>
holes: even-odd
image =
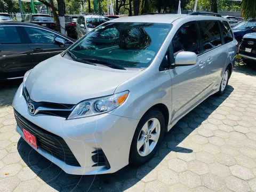
[[[198,61],[197,55],[194,52],[182,51],[176,55],[175,65],[177,66],[189,66],[195,65]]]

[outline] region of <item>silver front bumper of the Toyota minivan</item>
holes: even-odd
[[[108,113],[70,120],[40,114],[31,116],[21,87],[22,85],[14,96],[14,109],[29,122],[62,138],[80,166],[68,165],[42,148],[34,148],[39,154],[69,174],[114,173],[129,164],[130,146],[138,119]],[[24,138],[19,126],[17,132]],[[94,161],[92,158],[95,151],[103,151],[110,168],[105,165],[95,166],[95,158]]]

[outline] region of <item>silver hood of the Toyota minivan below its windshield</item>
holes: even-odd
[[[138,73],[138,70],[91,66],[57,55],[39,63],[25,85],[33,101],[77,104],[113,94],[119,84]]]

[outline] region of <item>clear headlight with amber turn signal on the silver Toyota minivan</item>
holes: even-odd
[[[129,91],[124,91],[114,95],[109,95],[107,97],[82,101],[73,109],[68,119],[89,117],[107,113],[108,111],[122,105],[122,103],[128,97],[128,94]]]

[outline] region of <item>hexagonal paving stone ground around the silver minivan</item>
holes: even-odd
[[[236,62],[227,92],[182,118],[148,163],[95,176],[66,174],[15,132],[20,83],[0,85],[0,191],[256,191],[256,67]]]

